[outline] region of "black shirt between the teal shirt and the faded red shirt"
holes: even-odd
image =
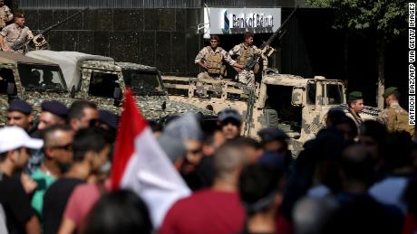
[[[49,187],[44,194],[44,234],[55,234],[58,232],[63,211],[70,199],[73,189],[84,181],[73,178],[62,178]]]

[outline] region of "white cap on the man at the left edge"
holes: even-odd
[[[41,139],[31,138],[18,126],[5,126],[0,128],[0,153],[20,147],[40,149],[44,145]]]

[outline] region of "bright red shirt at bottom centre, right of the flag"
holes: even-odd
[[[165,216],[160,234],[238,233],[244,220],[238,192],[207,189],[177,201]]]

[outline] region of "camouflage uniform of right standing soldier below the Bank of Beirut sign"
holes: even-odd
[[[228,51],[230,56],[238,55],[238,64],[246,66],[247,61],[255,53],[261,53],[259,49],[255,45],[246,46],[244,43],[240,43],[235,45],[233,49]],[[238,80],[241,83],[246,84],[247,86],[254,87],[255,86],[255,74],[253,70],[242,70],[237,75],[235,80]]]

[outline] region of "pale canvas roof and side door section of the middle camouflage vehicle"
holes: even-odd
[[[29,51],[26,56],[58,63],[71,98],[90,100],[120,114],[124,81],[112,58],[77,51]]]

